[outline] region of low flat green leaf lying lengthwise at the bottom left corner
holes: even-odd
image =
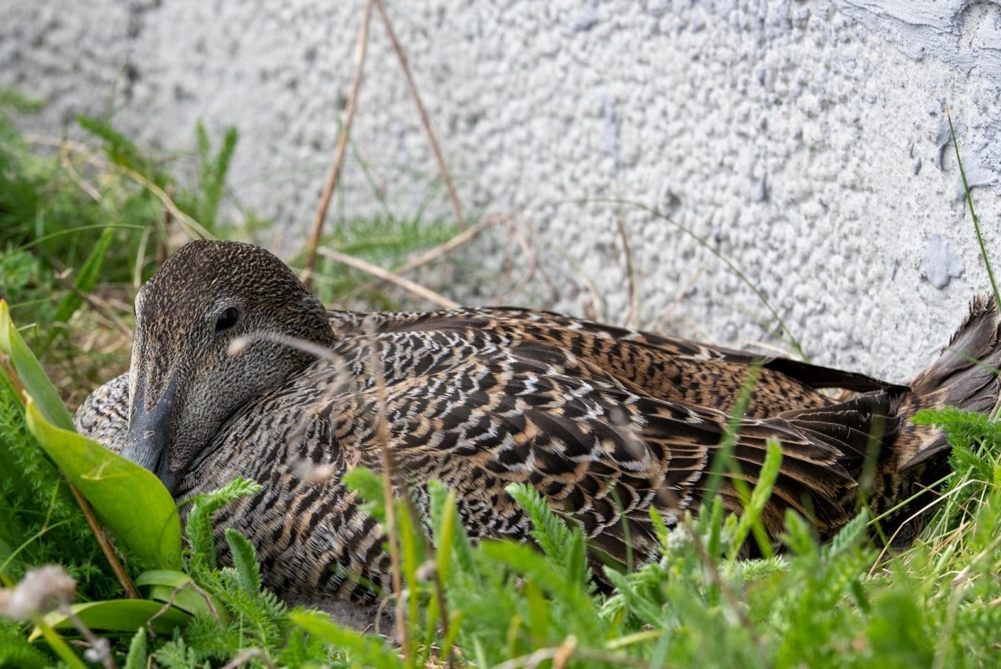
[[[109,599],[103,602],[73,604],[70,610],[84,625],[92,630],[132,632],[149,623],[157,634],[170,634],[176,627],[183,627],[191,616],[180,609],[169,607],[163,613],[163,604],[148,599]],[[155,616],[155,617],[154,617]],[[73,627],[69,618],[59,611],[52,611],[42,618],[49,627],[67,629]],[[41,636],[36,627],[29,641]]]

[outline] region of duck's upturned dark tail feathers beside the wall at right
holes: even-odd
[[[922,409],[958,407],[989,412],[1001,392],[1001,322],[994,296],[977,295],[970,315],[953,334],[939,359],[911,383],[911,394],[900,407],[909,419]],[[897,442],[898,471],[928,461],[949,448],[939,430],[907,421]]]

